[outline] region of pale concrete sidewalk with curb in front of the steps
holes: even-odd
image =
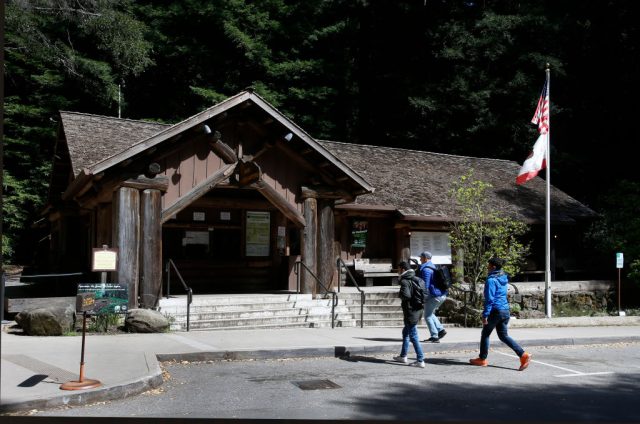
[[[510,334],[525,349],[535,346],[640,342],[640,317],[512,320]],[[450,328],[425,353],[470,350],[477,354],[479,328]],[[421,339],[428,338],[425,326]],[[77,381],[82,338],[1,334],[0,412],[46,409],[122,399],[158,387],[160,362],[276,359],[398,354],[401,328],[298,328],[215,330],[162,334],[87,335],[84,378],[101,387],[61,390]],[[499,343],[495,333],[492,343]],[[471,357],[470,356],[470,357]]]

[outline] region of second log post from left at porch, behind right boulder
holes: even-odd
[[[162,295],[162,193],[142,192],[140,209],[140,303],[155,308]]]

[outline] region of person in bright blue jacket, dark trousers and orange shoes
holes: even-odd
[[[498,338],[509,346],[520,357],[520,369],[522,371],[529,366],[531,355],[509,336],[509,301],[507,300],[507,288],[509,275],[502,270],[504,260],[493,257],[489,259],[487,268],[489,273],[484,285],[484,309],[482,311],[482,334],[480,336],[480,355],[470,359],[471,365],[486,367],[489,363],[489,336],[496,329]]]

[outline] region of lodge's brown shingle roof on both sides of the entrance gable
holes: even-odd
[[[74,176],[84,168],[131,148],[170,125],[76,112],[61,112]],[[354,206],[395,208],[414,219],[451,219],[456,214],[447,201],[452,184],[469,170],[490,183],[488,205],[508,216],[544,222],[545,181],[516,185],[520,165],[513,161],[432,153],[393,147],[315,140],[375,187],[356,198]],[[556,222],[591,218],[595,212],[552,187],[551,217]]]

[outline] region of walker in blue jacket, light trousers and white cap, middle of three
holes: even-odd
[[[427,328],[431,335],[425,342],[440,343],[440,339],[447,335],[442,323],[436,316],[442,302],[447,298],[448,291],[444,287],[438,287],[435,284],[435,275],[438,268],[431,262],[431,252],[422,252],[420,254],[420,267],[418,275],[424,280],[425,300],[424,300],[424,320],[427,322]],[[443,290],[444,289],[444,290]]]

